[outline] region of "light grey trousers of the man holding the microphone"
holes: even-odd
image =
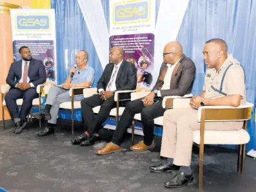
[[[59,105],[61,103],[71,101],[69,90],[61,89],[60,87],[51,87],[50,91],[47,95],[47,99],[45,104],[52,105],[52,108],[50,110],[50,114],[52,116],[52,119],[48,121],[48,123],[56,124],[57,123],[57,117],[59,114]]]

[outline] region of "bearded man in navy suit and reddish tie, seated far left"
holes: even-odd
[[[46,72],[43,62],[32,58],[27,46],[19,48],[21,60],[12,63],[6,83],[11,86],[5,96],[6,107],[14,119],[13,132],[19,134],[26,126],[26,115],[32,107],[32,101],[38,98],[37,85],[46,82]],[[16,104],[17,99],[23,99],[20,114]]]

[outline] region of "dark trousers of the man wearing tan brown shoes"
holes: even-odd
[[[150,145],[153,142],[153,119],[159,118],[164,115],[164,109],[162,108],[162,100],[158,103],[153,103],[148,107],[144,107],[143,101],[134,100],[126,104],[123,115],[119,120],[119,125],[115,129],[115,133],[112,138],[112,143],[120,145],[127,128],[130,126],[133,117],[137,113],[141,113],[141,121],[143,123],[144,144]]]

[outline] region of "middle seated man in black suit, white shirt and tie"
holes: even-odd
[[[100,137],[97,133],[101,129],[101,124],[108,118],[110,110],[116,107],[115,91],[136,88],[136,69],[132,63],[123,60],[123,49],[119,47],[112,48],[109,58],[110,64],[106,65],[103,75],[97,83],[99,94],[94,94],[90,98],[81,101],[86,132],[72,139],[73,144],[90,145],[99,141]],[[94,118],[92,109],[99,105],[101,105],[101,109],[97,118]]]

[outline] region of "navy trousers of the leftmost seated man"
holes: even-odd
[[[35,98],[38,98],[35,88],[30,88],[25,91],[17,88],[10,89],[5,96],[5,103],[12,119],[21,118],[23,121],[26,121],[26,116],[32,107],[32,101]],[[17,99],[23,99],[20,114],[19,107],[16,103]]]

